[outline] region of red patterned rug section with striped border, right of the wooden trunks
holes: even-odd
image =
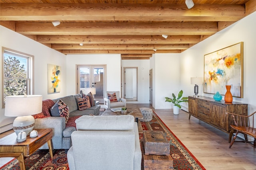
[[[166,139],[170,141],[170,155],[175,170],[206,170],[196,157],[181,143],[164,122],[153,112],[153,119],[141,122],[145,131],[163,131]],[[142,134],[140,134],[140,138]]]

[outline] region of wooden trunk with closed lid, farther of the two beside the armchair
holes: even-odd
[[[170,155],[170,143],[162,131],[143,131],[145,154]]]

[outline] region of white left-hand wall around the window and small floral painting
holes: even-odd
[[[34,94],[42,95],[44,99],[54,99],[66,96],[66,55],[59,53],[45,45],[42,45],[28,37],[16,33],[6,27],[0,25],[0,51],[2,47],[20,51],[22,53],[34,55]],[[2,57],[2,56],[1,56]],[[61,91],[56,94],[47,94],[47,64],[55,64],[61,66]],[[2,73],[2,59],[0,60],[0,72]],[[2,76],[0,76],[0,88],[2,89]],[[0,90],[1,109],[0,109],[0,127],[13,122],[15,117],[5,117],[4,109],[2,109],[2,90]],[[11,128],[0,128],[0,133]]]

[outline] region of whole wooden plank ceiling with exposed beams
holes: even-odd
[[[185,0],[0,0],[0,24],[64,54],[149,59],[181,53],[256,11],[255,0],[193,2],[188,9]]]

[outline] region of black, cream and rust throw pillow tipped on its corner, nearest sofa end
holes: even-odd
[[[59,99],[58,102],[56,102],[52,106],[51,114],[52,114],[52,116],[65,117],[65,123],[68,123],[69,108],[61,99]]]

